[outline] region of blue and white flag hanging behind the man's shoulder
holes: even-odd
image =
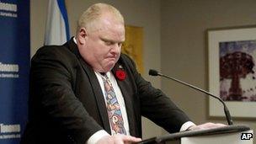
[[[45,45],[62,45],[69,40],[67,10],[64,0],[49,0]]]

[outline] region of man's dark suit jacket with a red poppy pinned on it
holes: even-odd
[[[189,118],[159,89],[136,71],[131,58],[120,56],[112,72],[125,99],[131,136],[141,137],[141,115],[169,132],[179,131]],[[29,122],[21,143],[81,143],[94,132],[110,133],[104,96],[92,67],[80,56],[73,40],[44,46],[31,61]]]

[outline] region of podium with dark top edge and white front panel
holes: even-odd
[[[152,137],[139,144],[253,144],[253,131],[245,125],[227,125]]]

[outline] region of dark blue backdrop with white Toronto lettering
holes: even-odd
[[[0,1],[0,144],[19,143],[29,95],[29,0]]]

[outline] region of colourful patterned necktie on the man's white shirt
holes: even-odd
[[[120,104],[116,98],[114,88],[109,81],[109,77],[106,74],[102,75],[104,83],[104,93],[106,99],[106,107],[109,115],[109,121],[113,134],[126,134],[124,127],[124,120],[120,110]]]

